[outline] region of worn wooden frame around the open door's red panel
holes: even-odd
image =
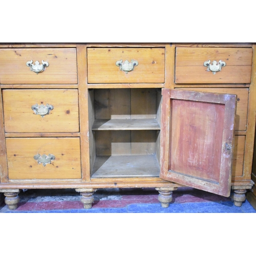
[[[185,186],[198,188],[210,193],[229,197],[231,188],[232,158],[234,147],[234,122],[236,117],[237,95],[206,93],[196,91],[162,89],[162,117],[161,117],[161,156],[160,156],[160,178],[176,182]],[[172,131],[170,129],[172,121],[172,100],[181,99],[198,102],[209,102],[224,104],[224,125],[222,136],[222,152],[220,164],[219,182],[205,180],[200,177],[188,176],[170,170],[170,138]],[[172,156],[173,157],[173,156]]]

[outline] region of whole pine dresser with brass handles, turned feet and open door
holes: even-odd
[[[0,193],[189,186],[241,206],[251,180],[254,44],[1,44]],[[174,192],[175,193],[175,192]],[[171,206],[170,206],[171,207]]]

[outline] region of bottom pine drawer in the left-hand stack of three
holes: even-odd
[[[9,179],[81,178],[79,138],[7,138],[6,149]]]

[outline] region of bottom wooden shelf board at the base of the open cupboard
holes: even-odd
[[[159,177],[155,155],[97,156],[92,178]]]

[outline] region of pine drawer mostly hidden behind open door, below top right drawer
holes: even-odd
[[[224,93],[224,94],[236,94],[237,97],[237,114],[236,125],[234,130],[245,131],[247,129],[247,110],[248,110],[248,88],[186,88],[179,90],[186,91],[200,91],[209,93]]]

